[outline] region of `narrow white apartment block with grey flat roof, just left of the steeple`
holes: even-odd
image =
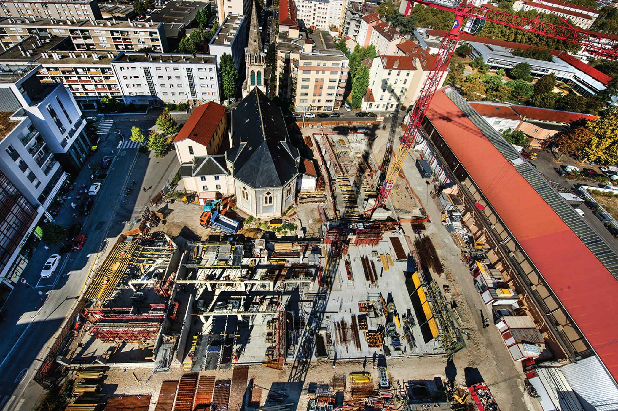
[[[234,66],[242,78],[245,72],[245,47],[247,47],[247,22],[242,14],[228,14],[208,46],[210,53],[221,61],[223,54],[231,54]]]

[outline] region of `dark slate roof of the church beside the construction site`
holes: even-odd
[[[232,110],[232,143],[226,158],[234,177],[255,189],[282,187],[298,174],[281,109],[257,87]]]

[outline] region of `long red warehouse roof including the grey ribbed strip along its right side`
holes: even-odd
[[[427,117],[617,378],[616,252],[451,87]]]

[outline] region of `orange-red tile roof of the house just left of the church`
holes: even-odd
[[[221,105],[209,101],[193,109],[193,114],[189,117],[180,132],[172,143],[177,143],[185,138],[189,138],[203,146],[208,146],[214,131],[226,115],[226,109]]]

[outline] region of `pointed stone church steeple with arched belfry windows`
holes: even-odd
[[[251,11],[249,25],[249,41],[245,48],[245,84],[242,96],[245,97],[253,88],[258,87],[263,93],[266,91],[266,53],[262,47],[260,26],[255,1]]]

